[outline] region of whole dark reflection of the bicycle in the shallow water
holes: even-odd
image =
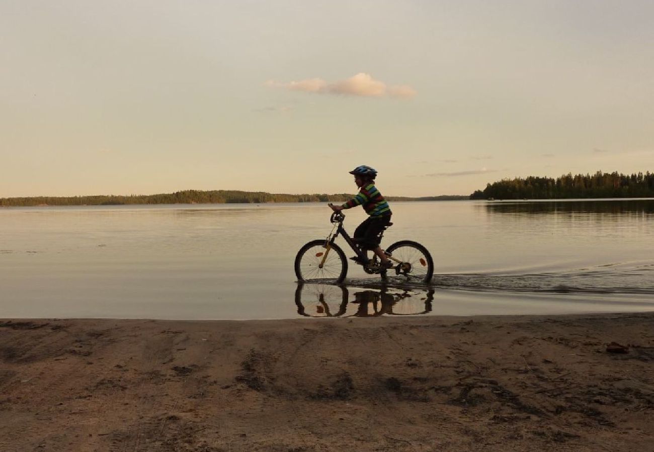
[[[352,295],[350,302],[350,290],[345,285],[298,283],[295,303],[298,314],[305,317],[375,317],[427,314],[434,301],[434,289],[409,291],[384,286],[353,291]],[[354,312],[348,314],[348,310]]]

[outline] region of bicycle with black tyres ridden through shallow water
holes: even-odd
[[[298,281],[316,282],[318,280],[334,280],[336,283],[343,282],[347,276],[347,258],[345,253],[336,243],[337,236],[341,235],[345,242],[352,248],[356,257],[352,259],[362,265],[368,274],[379,274],[383,280],[387,279],[388,271],[395,272],[397,276],[404,276],[406,280],[428,283],[434,274],[434,260],[429,251],[418,242],[412,240],[400,240],[389,246],[385,253],[392,262],[390,268],[383,268],[377,255],[369,261],[366,259],[366,251],[349,236],[343,227],[345,214],[334,212],[330,222],[334,225],[332,232],[324,239],[311,240],[300,248],[295,257],[295,274]],[[389,223],[387,229],[393,223]],[[377,236],[378,242],[384,231]]]

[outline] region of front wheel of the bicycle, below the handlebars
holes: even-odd
[[[299,281],[333,280],[339,283],[345,280],[346,274],[345,253],[334,243],[326,248],[324,239],[305,244],[295,257],[295,275]]]

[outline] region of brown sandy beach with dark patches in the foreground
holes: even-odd
[[[654,313],[0,321],[5,452],[654,451],[652,419]]]

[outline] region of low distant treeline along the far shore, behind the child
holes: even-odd
[[[74,197],[0,198],[0,206],[111,206],[121,204],[263,204],[266,202],[345,202],[354,195],[285,195],[264,191],[184,190],[159,195],[95,195]],[[432,196],[422,198],[387,197],[388,201],[450,201],[467,196]]]

